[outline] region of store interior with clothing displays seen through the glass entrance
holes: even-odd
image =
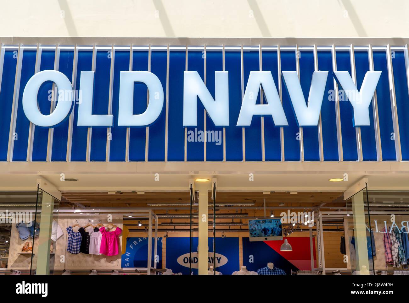
[[[364,199],[368,274],[406,274],[409,192],[357,195]],[[0,223],[0,274],[38,274],[44,247],[49,274],[198,274],[198,201],[189,189],[63,191],[60,201],[42,189],[1,192],[1,212],[36,224]],[[357,212],[342,191],[209,191],[208,201],[209,274],[359,273]],[[46,203],[52,218],[42,211]],[[249,222],[262,219],[280,219],[282,237],[252,241]],[[42,220],[52,221],[49,231]]]

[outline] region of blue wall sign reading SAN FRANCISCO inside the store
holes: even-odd
[[[152,267],[154,265],[155,241],[152,239]],[[159,263],[156,268],[162,268],[162,238],[157,239],[157,255]],[[126,238],[126,252],[121,256],[121,267],[146,267],[148,264],[148,238]]]

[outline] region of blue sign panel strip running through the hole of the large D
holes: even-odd
[[[149,53],[133,52],[133,71],[148,70]],[[133,91],[133,114],[142,114],[146,110],[148,89],[145,84],[135,82]],[[145,161],[146,127],[131,127],[129,132],[129,160]]]

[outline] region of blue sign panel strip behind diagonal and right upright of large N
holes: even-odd
[[[221,51],[206,52],[206,86],[213,99],[215,96],[215,71],[223,70],[223,53]],[[223,160],[223,127],[216,127],[207,114],[206,130],[214,131],[215,142],[206,142],[206,160]],[[216,137],[218,140],[216,140]]]

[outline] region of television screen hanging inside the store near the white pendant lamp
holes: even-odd
[[[250,241],[283,240],[281,219],[258,219],[249,221]]]

